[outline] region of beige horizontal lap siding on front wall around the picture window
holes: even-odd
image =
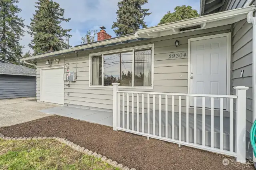
[[[84,107],[100,108],[112,110],[113,91],[112,88],[106,87],[90,87],[89,88],[89,54],[101,51],[109,51],[113,49],[122,49],[126,47],[135,47],[138,45],[146,45],[154,43],[154,89],[122,89],[126,91],[154,91],[168,93],[187,93],[188,79],[188,59],[168,59],[169,53],[177,51],[188,51],[188,39],[201,36],[210,36],[213,34],[222,34],[229,32],[230,25],[221,26],[206,30],[198,30],[194,32],[186,32],[172,36],[164,36],[133,43],[115,45],[111,47],[99,48],[78,52],[77,58],[77,81],[70,82],[70,87],[64,86],[64,103],[65,105],[80,105]],[[180,41],[180,46],[175,46],[175,41]],[[56,64],[53,59],[60,59]],[[60,67],[69,63],[69,71],[76,71],[76,54],[66,54],[57,57],[50,57],[52,67]],[[37,64],[37,99],[40,101],[40,69],[47,68],[46,59],[38,60]],[[69,92],[69,95],[67,93]],[[145,102],[146,102],[145,97]],[[162,103],[164,99],[162,99]],[[131,99],[130,99],[131,101]],[[140,96],[141,101],[141,96]],[[156,103],[159,99],[156,97]],[[168,100],[171,105],[171,99]],[[150,108],[152,107],[152,97],[150,96]],[[140,102],[140,106],[142,103]],[[178,99],[175,100],[175,109],[178,109]],[[130,105],[131,106],[131,105]],[[186,100],[182,98],[182,110],[185,109]],[[156,109],[159,106],[156,105]],[[168,110],[170,110],[170,106]]]

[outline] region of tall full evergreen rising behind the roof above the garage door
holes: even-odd
[[[71,37],[68,33],[72,30],[60,26],[62,21],[70,21],[70,18],[64,18],[65,10],[52,0],[38,0],[35,7],[37,9],[33,18],[30,18],[30,26],[27,26],[30,30],[28,33],[33,38],[28,46],[33,49],[34,55],[65,49],[67,44],[64,39]]]

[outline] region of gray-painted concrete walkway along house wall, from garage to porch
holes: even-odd
[[[113,125],[112,112],[80,109],[76,107],[67,107],[67,106],[43,109],[43,110],[40,110],[40,112],[51,114],[51,115],[60,115],[60,116],[70,117],[73,119],[78,119],[81,121],[87,121],[91,123],[97,123],[100,125],[106,125],[110,127],[112,127]]]

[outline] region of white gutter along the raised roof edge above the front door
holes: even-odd
[[[246,14],[248,14],[248,12],[253,12],[254,8],[255,8],[255,5],[247,6],[244,8],[219,12],[219,13],[215,13],[215,14],[209,14],[209,15],[200,16],[197,18],[191,18],[191,19],[187,19],[187,20],[163,24],[160,26],[143,28],[143,29],[137,30],[137,35],[140,36],[140,34],[147,34],[147,33],[149,34],[152,32],[166,31],[166,30],[169,30],[170,28],[172,28],[172,29],[182,28],[182,27],[187,27],[187,26],[204,24],[205,22],[214,22],[214,21],[218,21],[218,20],[229,19],[235,15],[242,15],[242,14],[246,15]]]

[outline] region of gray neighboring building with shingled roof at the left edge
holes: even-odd
[[[36,96],[36,70],[0,60],[0,99]]]

